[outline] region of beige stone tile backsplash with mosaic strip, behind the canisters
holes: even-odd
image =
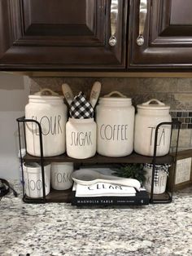
[[[159,99],[171,107],[171,115],[181,121],[179,150],[192,148],[192,78],[168,77],[31,77],[31,93],[48,87],[62,94],[67,82],[74,95],[83,91],[89,99],[95,81],[102,83],[101,95],[119,90],[133,100],[133,106],[149,99]],[[177,130],[172,132],[172,151],[176,148]]]

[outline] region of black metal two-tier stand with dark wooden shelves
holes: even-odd
[[[73,162],[76,166],[83,164],[119,164],[119,163],[149,163],[153,165],[152,169],[152,180],[151,180],[151,193],[150,196],[150,203],[170,203],[172,201],[172,191],[173,191],[173,180],[175,176],[175,171],[172,172],[173,177],[172,179],[172,185],[168,188],[166,188],[166,191],[163,194],[156,195],[154,194],[154,179],[155,179],[155,165],[160,164],[171,164],[173,165],[173,170],[175,170],[176,167],[176,160],[177,160],[177,147],[178,147],[178,140],[179,140],[179,132],[181,128],[181,122],[179,121],[170,121],[170,122],[161,122],[158,126],[156,126],[155,129],[155,147],[154,147],[154,156],[153,157],[145,157],[142,155],[139,155],[135,152],[133,152],[131,155],[127,157],[103,157],[98,154],[96,154],[94,157],[90,157],[87,159],[76,159],[72,157],[68,157],[67,154],[62,154],[56,157],[44,157],[43,155],[43,143],[42,143],[42,131],[41,131],[41,125],[38,121],[34,119],[26,119],[25,117],[20,117],[17,119],[18,122],[18,131],[19,131],[19,143],[20,143],[20,164],[22,168],[22,178],[24,180],[24,170],[23,170],[23,163],[24,162],[39,162],[41,164],[41,174],[42,174],[42,192],[43,196],[41,198],[30,198],[26,195],[24,190],[24,183],[23,183],[23,201],[26,203],[47,203],[47,202],[71,202],[72,198],[72,189],[68,189],[65,191],[59,191],[51,188],[50,193],[46,196],[46,189],[45,189],[45,174],[44,174],[44,166],[46,163],[51,162]],[[25,124],[27,122],[34,122],[37,124],[39,129],[39,141],[40,141],[40,157],[33,157],[29,155],[28,153],[22,157],[21,155],[21,129],[24,130],[24,147],[27,148],[26,145],[26,134],[25,134]],[[23,125],[23,126],[22,126]],[[177,146],[176,151],[174,154],[167,154],[164,157],[157,157],[156,151],[157,151],[157,139],[158,139],[158,130],[160,126],[171,126],[171,130],[174,128],[177,128]],[[171,132],[171,139],[172,139],[172,132]]]

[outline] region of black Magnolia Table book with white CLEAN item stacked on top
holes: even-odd
[[[145,188],[136,191],[133,187],[109,183],[81,185],[74,183],[72,205],[149,205]]]

